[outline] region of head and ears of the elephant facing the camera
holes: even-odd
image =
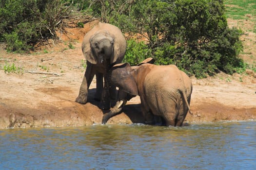
[[[126,41],[118,27],[99,22],[83,39],[82,51],[91,64],[104,64],[105,59],[110,64],[120,63],[126,50]]]

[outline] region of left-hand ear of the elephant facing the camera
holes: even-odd
[[[92,35],[90,38],[85,36],[82,42],[82,52],[87,61],[89,61],[92,64],[97,64],[96,58],[93,56],[93,52],[91,51],[91,45],[90,42],[94,35]]]

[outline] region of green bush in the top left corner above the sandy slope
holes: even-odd
[[[7,51],[30,51],[42,39],[55,38],[70,6],[61,0],[1,0],[0,41]]]

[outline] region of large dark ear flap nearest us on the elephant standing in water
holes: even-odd
[[[138,95],[138,88],[128,63],[120,63],[111,68],[111,83],[128,94]]]

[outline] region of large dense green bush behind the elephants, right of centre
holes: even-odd
[[[241,32],[228,28],[223,0],[117,1],[113,8],[112,0],[104,0],[95,15],[106,16],[105,22],[122,31],[144,35],[157,64],[176,64],[198,78],[219,70],[232,74],[243,65],[237,57]],[[125,60],[136,63],[137,57],[128,53]]]

